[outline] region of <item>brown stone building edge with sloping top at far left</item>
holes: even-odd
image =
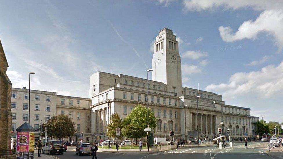
[[[15,158],[11,155],[11,89],[12,83],[6,71],[9,67],[0,41],[0,158]]]

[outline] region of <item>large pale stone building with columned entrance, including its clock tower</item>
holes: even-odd
[[[147,79],[105,72],[90,76],[93,140],[108,138],[106,126],[112,113],[125,118],[135,105],[146,106],[147,100],[157,117],[152,130],[155,137],[168,137],[171,130],[175,138],[213,138],[221,126],[225,133],[230,128],[233,138],[249,135],[249,108],[226,105],[222,96],[213,92],[200,90],[198,94],[197,89],[182,87],[178,41],[170,29],[163,28],[156,37],[152,69],[149,99]]]

